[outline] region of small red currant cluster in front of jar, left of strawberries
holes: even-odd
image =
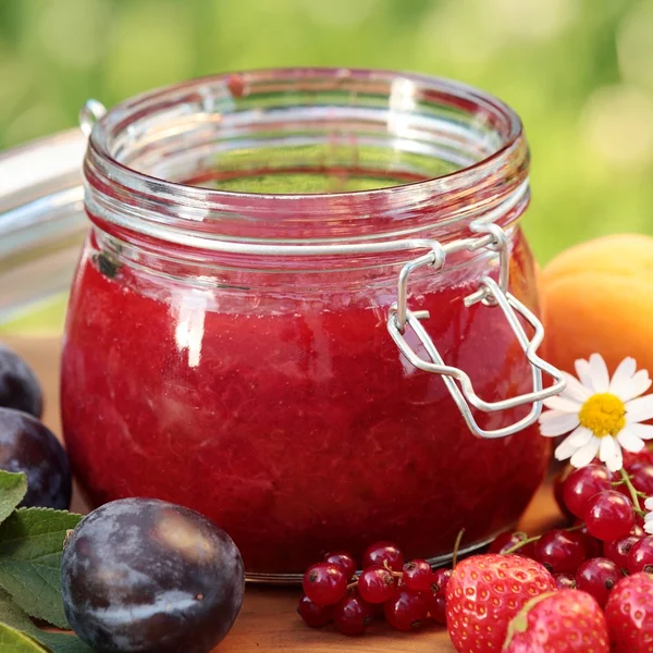
[[[297,612],[311,628],[331,621],[345,634],[362,634],[375,616],[397,630],[417,630],[429,616],[445,624],[446,583],[451,569],[433,571],[426,560],[404,564],[391,542],[378,542],[362,556],[362,572],[348,553],[332,553],[304,575]]]

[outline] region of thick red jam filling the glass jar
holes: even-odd
[[[476,439],[442,379],[402,357],[385,326],[396,278],[359,295],[263,293],[243,311],[225,291],[112,268],[95,247],[73,287],[62,375],[65,438],[94,505],[184,504],[232,535],[250,574],[288,574],[375,540],[411,558],[449,553],[463,527],[464,545],[481,543],[540,483],[537,427]],[[518,233],[513,292],[537,308],[531,263]],[[482,398],[527,392],[498,309],[463,306],[473,289],[427,284],[416,306]],[[498,428],[522,415],[478,417]]]

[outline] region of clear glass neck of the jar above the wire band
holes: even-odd
[[[188,167],[198,161],[193,157],[214,165],[208,153],[231,147],[230,138],[268,156],[269,134],[272,141],[278,134],[292,138],[293,130],[313,134],[316,124],[322,144],[344,133],[355,150],[367,137],[386,152],[418,151],[457,169],[430,178],[420,172],[423,181],[401,185],[311,194],[224,190],[152,174],[165,165],[181,174],[171,162]],[[528,163],[517,114],[470,86],[416,73],[293,67],[200,77],[121,102],[95,123],[84,176],[91,221],[119,238],[225,251],[225,243],[460,237],[471,220],[506,202],[528,204]],[[521,212],[510,211],[505,224]]]

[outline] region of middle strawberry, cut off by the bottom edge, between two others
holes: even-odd
[[[510,621],[503,653],[608,653],[607,624],[587,592],[560,590],[531,599]]]

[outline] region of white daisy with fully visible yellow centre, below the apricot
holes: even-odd
[[[637,371],[629,357],[611,379],[599,354],[575,366],[578,379],[565,373],[565,391],[543,402],[551,410],[540,417],[540,432],[557,438],[571,431],[555,449],[558,460],[571,458],[574,467],[584,467],[599,455],[611,471],[618,471],[621,447],[636,453],[644,448],[644,440],[653,439],[653,426],[640,423],[653,418],[653,394],[640,396],[651,387],[649,372]]]

